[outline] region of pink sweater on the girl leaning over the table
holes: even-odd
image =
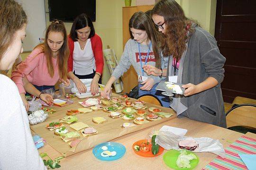
[[[52,59],[54,65],[54,76],[51,77],[47,69],[47,60],[45,53],[35,49],[22,61],[18,67],[11,73],[11,79],[18,87],[19,93],[26,93],[22,78],[27,76],[27,80],[37,86],[55,85],[59,80],[59,69],[57,59]]]

